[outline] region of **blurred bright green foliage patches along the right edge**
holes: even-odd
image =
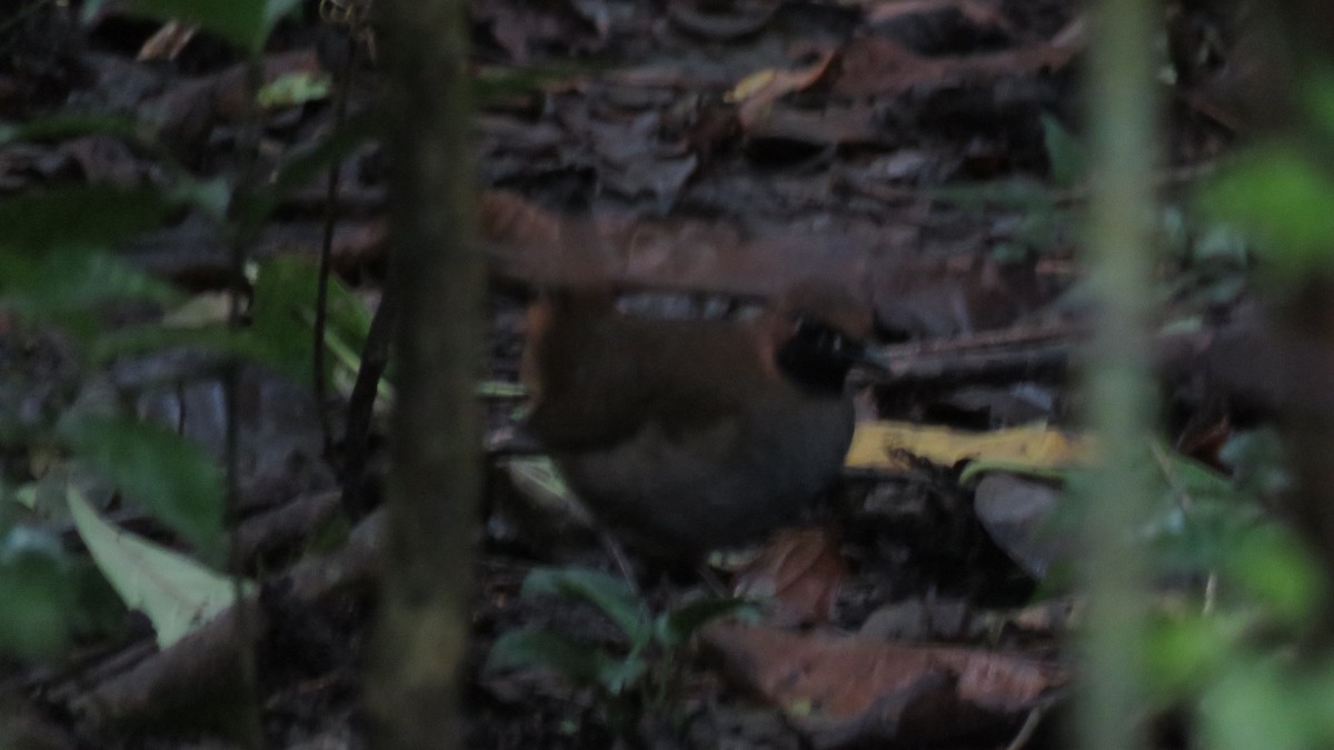
[[[1251,147],[1197,196],[1223,236],[1247,239],[1275,300],[1334,272],[1334,171],[1322,156],[1334,144],[1334,75],[1310,75],[1294,91],[1303,121]],[[1310,641],[1334,582],[1311,539],[1299,540],[1307,530],[1271,520],[1286,515],[1278,508],[1293,490],[1275,444],[1267,432],[1238,435],[1222,455],[1234,474],[1230,491],[1255,518],[1195,542],[1215,560],[1203,593],[1158,617],[1149,643],[1155,699],[1191,709],[1201,747],[1334,746],[1334,663]],[[1270,520],[1259,507],[1275,511]]]

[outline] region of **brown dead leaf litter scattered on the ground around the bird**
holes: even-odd
[[[823,526],[780,536],[734,581],[738,591],[772,602],[768,619],[708,625],[699,649],[674,653],[687,673],[672,695],[686,729],[644,722],[640,739],[711,747],[740,731],[732,746],[750,747],[774,741],[776,731],[788,733],[779,742],[796,742],[795,733],[820,747],[998,746],[1035,711],[1062,701],[1070,673],[1055,639],[1065,619],[1022,625],[1045,611],[1042,603],[1021,607],[1053,559],[1026,536],[1037,522],[1013,518],[1033,498],[1014,480],[1005,484],[1009,495],[996,491],[994,478],[1010,474],[987,474],[984,502],[979,498],[987,515],[979,519],[958,472],[971,462],[1006,471],[1018,460],[1027,470],[1063,468],[1082,455],[1054,428],[994,432],[1070,418],[1063,368],[1081,310],[1066,295],[1078,291],[1078,275],[1069,271],[1078,240],[1035,216],[1070,222],[1069,202],[1042,188],[1061,167],[1045,123],[1069,124],[1077,115],[1081,8],[1059,0],[1023,8],[922,0],[668,9],[478,0],[471,11],[478,69],[494,73],[479,84],[479,218],[498,279],[514,287],[579,282],[703,295],[730,310],[822,276],[866,292],[878,343],[899,347],[894,360],[908,363],[896,379],[859,386],[863,411],[874,419],[862,427],[854,451],[862,458],[850,462],[847,487],[834,498],[847,507],[831,511],[834,520],[822,519]],[[45,25],[43,13],[55,13]],[[47,41],[76,39],[59,13],[48,8],[24,24]],[[11,40],[12,60],[43,64],[0,68],[0,111],[20,120],[64,108],[132,115],[147,128],[145,140],[199,176],[233,167],[244,89],[232,53],[197,29],[145,29],[115,11],[91,20],[87,32],[87,44],[79,37],[75,45]],[[265,81],[315,81],[332,72],[320,41],[332,32],[304,20],[280,27],[263,57]],[[157,60],[136,60],[137,51]],[[560,75],[532,73],[544,68]],[[508,88],[496,83],[507,75]],[[370,104],[368,92],[355,89],[354,107]],[[321,95],[275,100],[264,113],[261,167],[276,168],[317,144],[331,123]],[[1210,129],[1215,125],[1191,120],[1179,125],[1177,140],[1190,144],[1193,157],[1209,157],[1226,143]],[[84,181],[163,184],[160,164],[143,145],[96,133],[12,143],[0,148],[0,185],[21,194]],[[383,161],[370,144],[342,165],[335,267],[360,287],[378,286],[384,274]],[[980,187],[948,190],[960,185]],[[253,256],[313,258],[324,203],[323,177],[283,198],[260,228]],[[199,208],[119,252],[203,295],[216,294],[227,274],[224,246]],[[511,380],[522,334],[516,304],[496,296],[491,335],[492,374]],[[1041,334],[1003,336],[1025,331]],[[1011,356],[1019,346],[1042,348]],[[164,368],[164,380],[179,378],[165,364],[152,367]],[[265,550],[267,566],[287,570],[319,547],[329,506],[313,499],[331,478],[327,468],[312,468],[321,459],[311,420],[275,406],[291,384],[269,374],[249,378],[253,398],[241,416],[252,423],[245,434],[255,459],[244,502],[255,511],[301,508],[281,523],[276,512],[255,515],[265,519],[253,528],[255,548]],[[163,388],[141,390],[143,411],[167,423],[188,411],[187,432],[216,447],[220,427],[207,408],[216,388],[216,380],[195,382],[176,402]],[[1039,390],[1049,395],[1029,398]],[[31,394],[51,398],[37,388]],[[1017,394],[1027,394],[1018,411]],[[292,419],[275,419],[275,408]],[[1023,419],[1006,416],[1015,414]],[[512,404],[492,410],[494,428],[512,423]],[[1006,496],[1017,498],[1015,507]],[[1042,507],[1051,503],[1059,500],[1043,494]],[[496,507],[528,512],[522,499]],[[1002,522],[1005,534],[996,531]],[[830,523],[843,534],[831,534]],[[531,518],[508,524],[492,518],[487,528],[472,663],[480,665],[496,637],[535,622],[598,634],[615,650],[614,629],[586,605],[519,597],[520,573],[538,562],[604,563],[587,531],[552,544],[540,539],[550,536],[546,522]],[[264,543],[265,535],[281,542]],[[335,559],[356,548],[350,544]],[[654,611],[707,595],[692,574],[654,573],[642,593]],[[354,590],[367,582],[350,578]],[[995,614],[955,617],[946,601]],[[364,633],[366,618],[350,615],[364,614],[364,602],[342,593],[288,602],[295,610],[284,614],[292,619],[277,630],[299,649],[287,661],[268,654],[279,677],[265,702],[283,717],[281,742],[342,738],[339,746],[360,746],[350,729],[358,678],[331,650]],[[911,629],[891,627],[894,607],[895,618],[904,607],[934,614]],[[1058,601],[1051,609],[1067,607]],[[863,630],[876,613],[880,625]],[[301,623],[317,625],[303,635]],[[914,642],[902,642],[904,634]],[[41,678],[29,679],[41,687]],[[468,681],[470,746],[612,742],[598,706],[550,675],[524,682],[470,673]],[[87,710],[81,685],[47,687],[48,709]],[[783,729],[744,718],[766,703],[784,714]],[[116,746],[111,734],[99,734],[105,730],[84,731],[99,746]]]

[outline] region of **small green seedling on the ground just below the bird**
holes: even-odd
[[[632,731],[640,717],[662,715],[680,683],[683,650],[706,625],[723,617],[752,617],[746,599],[711,597],[658,615],[626,581],[588,569],[540,567],[528,574],[520,595],[584,602],[604,614],[624,638],[616,646],[576,641],[536,627],[511,630],[496,639],[486,671],[547,667],[598,694],[598,707],[618,733]]]

